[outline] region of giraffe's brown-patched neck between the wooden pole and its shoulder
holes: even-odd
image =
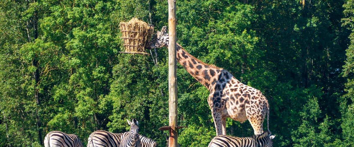
[[[213,65],[206,64],[194,56],[190,55],[187,51],[185,51],[181,45],[177,43],[177,61],[184,67],[187,72],[192,75],[198,82],[204,85],[209,91],[213,82],[215,84],[216,81],[212,81],[215,76],[222,70],[222,68],[218,68]]]

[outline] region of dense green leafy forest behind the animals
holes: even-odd
[[[177,0],[177,42],[261,90],[274,146],[354,146],[353,0]],[[165,146],[167,48],[120,54],[119,23],[167,26],[166,0],[1,0],[0,146],[43,146],[52,130],[140,133]],[[155,55],[155,53],[157,56]],[[150,51],[148,50],[148,53]],[[207,89],[181,65],[178,142],[216,135]],[[266,128],[266,123],[264,127]],[[167,133],[167,132],[165,132]],[[251,136],[248,121],[227,134]]]

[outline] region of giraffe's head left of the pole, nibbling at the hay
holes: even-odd
[[[161,48],[169,46],[169,34],[167,33],[167,26],[163,26],[160,31],[157,31],[153,39],[148,43],[147,49]]]

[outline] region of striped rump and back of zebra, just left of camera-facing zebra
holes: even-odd
[[[90,134],[87,147],[119,147],[123,133],[97,130]]]

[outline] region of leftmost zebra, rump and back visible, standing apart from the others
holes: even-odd
[[[79,137],[61,131],[51,131],[44,138],[45,147],[82,147]]]

